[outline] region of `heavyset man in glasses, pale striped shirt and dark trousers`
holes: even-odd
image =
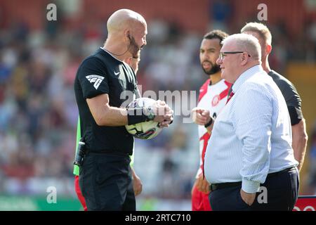
[[[216,118],[206,148],[212,209],[292,210],[299,179],[291,121],[281,91],[261,67],[258,39],[226,38],[217,63],[234,96]]]

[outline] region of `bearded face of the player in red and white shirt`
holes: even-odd
[[[220,52],[220,40],[203,39],[199,49],[199,61],[206,75],[213,75],[220,71],[219,65],[216,64]]]

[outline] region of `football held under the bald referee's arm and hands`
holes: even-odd
[[[154,102],[155,101],[152,98],[137,98],[129,103],[127,108],[148,107]],[[125,125],[125,127],[129,134],[132,134],[137,139],[153,139],[162,131],[162,128],[158,127],[158,122],[154,122],[152,120],[140,122],[138,124]]]

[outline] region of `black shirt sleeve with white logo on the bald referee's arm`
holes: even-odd
[[[95,57],[87,58],[82,63],[78,79],[84,98],[93,98],[100,94],[109,94],[105,65]]]

